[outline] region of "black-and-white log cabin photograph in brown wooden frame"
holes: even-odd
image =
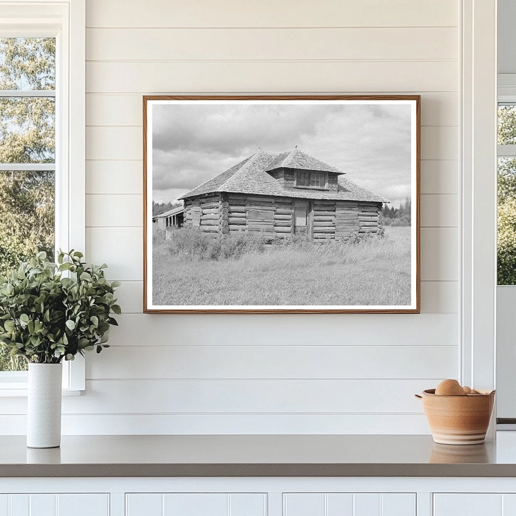
[[[419,313],[420,96],[144,96],[144,311]]]

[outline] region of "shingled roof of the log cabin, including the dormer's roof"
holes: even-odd
[[[298,166],[299,164],[303,166],[300,167]],[[314,169],[310,168],[308,164],[327,168]],[[377,193],[353,183],[343,175],[338,178],[337,191],[309,188],[286,189],[278,180],[267,173],[268,170],[277,168],[302,168],[303,170],[320,170],[344,174],[342,170],[325,164],[319,159],[299,151],[297,148],[283,153],[259,149],[251,156],[243,159],[240,163],[237,163],[214,178],[186,192],[179,199],[201,196],[205,193],[233,192],[249,193],[250,195],[293,197],[298,199],[389,202]]]

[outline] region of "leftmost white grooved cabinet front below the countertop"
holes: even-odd
[[[109,516],[109,494],[0,494],[0,516]]]

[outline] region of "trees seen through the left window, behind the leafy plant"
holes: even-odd
[[[54,259],[55,39],[0,38],[0,275]],[[0,345],[0,371],[23,370]]]

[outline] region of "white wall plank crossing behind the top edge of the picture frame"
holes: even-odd
[[[418,91],[404,94],[418,94]],[[390,92],[388,94],[396,94]],[[423,125],[457,125],[458,94],[428,92],[421,99]],[[142,93],[88,93],[86,95],[87,125],[142,124]]]

